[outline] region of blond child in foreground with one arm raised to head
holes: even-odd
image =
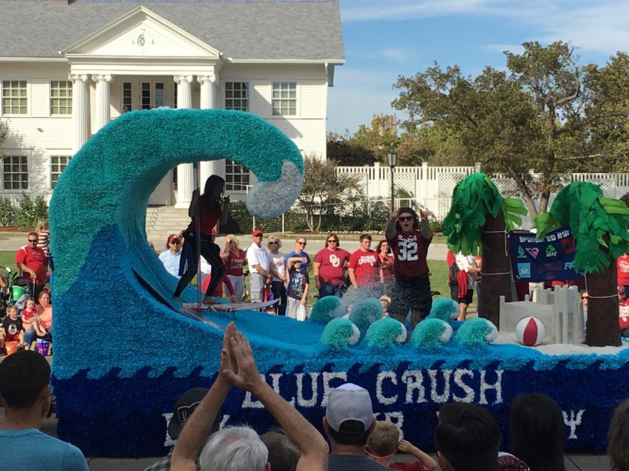
[[[419,461],[414,463],[391,463],[396,451],[407,453]],[[433,471],[437,469],[437,462],[428,454],[415,447],[406,440],[400,440],[400,429],[396,424],[387,421],[376,421],[373,431],[367,440],[367,452],[375,461],[392,470],[404,471]]]

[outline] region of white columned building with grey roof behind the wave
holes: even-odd
[[[344,63],[338,1],[1,0],[0,195],[50,197],[71,156],[125,110],[245,110],[326,155],[327,87]],[[228,190],[250,174],[201,164]],[[187,207],[191,164],[150,204]]]

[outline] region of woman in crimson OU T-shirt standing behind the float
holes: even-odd
[[[339,247],[338,235],[329,234],[326,246],[315,255],[315,285],[319,298],[326,296],[343,297],[347,290],[346,264],[349,252]]]

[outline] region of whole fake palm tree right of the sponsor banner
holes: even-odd
[[[577,240],[574,271],[586,275],[589,295],[586,344],[621,345],[616,258],[629,251],[629,208],[605,198],[599,186],[574,182],[555,197],[549,213],[535,218],[537,237],[563,225]]]

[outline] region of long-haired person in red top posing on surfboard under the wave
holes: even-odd
[[[179,300],[184,288],[192,281],[196,275],[196,267],[198,266],[198,253],[196,253],[196,214],[198,207],[199,227],[201,230],[201,255],[208,261],[212,267],[212,279],[205,290],[203,304],[217,304],[219,301],[212,299],[212,293],[217,285],[221,283],[225,274],[225,264],[221,259],[221,249],[214,243],[212,235],[217,223],[227,222],[227,207],[229,206],[229,196],[223,197],[225,190],[225,181],[218,175],[212,175],[205,181],[203,195],[199,196],[198,190],[192,193],[192,200],[188,209],[188,216],[192,218],[187,230],[185,231],[186,244],[184,247],[185,256],[181,257],[182,265],[188,266],[185,273],[182,274],[180,266],[179,273],[182,277],[175,288],[173,299]]]

